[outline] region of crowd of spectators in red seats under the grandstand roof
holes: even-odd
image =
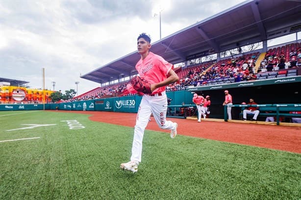
[[[176,70],[180,80],[166,87],[166,91],[184,90],[188,87],[209,85],[214,80],[227,79],[232,82],[252,81],[259,77],[261,72],[275,71],[301,67],[301,45],[300,43],[286,44],[281,47],[269,49],[260,66],[255,63],[260,53],[255,52],[239,57],[231,57],[219,62],[207,62],[188,66]],[[231,83],[232,83],[231,82]],[[226,82],[222,82],[226,83]],[[105,95],[121,95],[126,89],[126,83],[100,87],[86,92],[65,102],[89,100],[102,98]],[[132,95],[132,94],[125,94]]]

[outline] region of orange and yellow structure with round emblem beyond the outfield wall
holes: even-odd
[[[47,89],[1,86],[0,103],[48,103],[51,101],[51,93],[53,93],[53,91]]]

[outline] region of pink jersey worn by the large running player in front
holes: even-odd
[[[173,66],[161,56],[149,52],[149,55],[144,60],[140,59],[138,61],[136,69],[142,79],[147,80],[150,84],[155,84],[164,81]],[[137,93],[130,84],[126,88],[130,93]],[[155,89],[152,94],[163,91],[165,91],[165,86]]]

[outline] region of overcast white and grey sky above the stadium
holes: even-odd
[[[244,0],[0,0],[0,77],[30,88],[99,87],[80,78],[136,50],[140,33],[167,37]]]

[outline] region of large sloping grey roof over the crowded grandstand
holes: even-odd
[[[172,64],[301,30],[301,1],[248,0],[152,44],[151,51]],[[129,53],[80,76],[106,83],[136,74],[140,59]]]

